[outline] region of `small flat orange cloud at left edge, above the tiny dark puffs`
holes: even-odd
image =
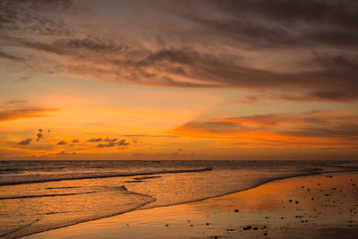
[[[0,121],[20,120],[20,119],[34,118],[34,117],[46,117],[58,110],[59,108],[1,107],[0,106]]]

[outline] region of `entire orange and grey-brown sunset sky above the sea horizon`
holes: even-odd
[[[0,0],[0,159],[358,159],[355,0]]]

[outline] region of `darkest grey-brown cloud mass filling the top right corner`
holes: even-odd
[[[357,47],[355,1],[187,1],[173,11],[256,47]],[[207,7],[200,7],[206,5]],[[201,10],[201,11],[198,11]],[[221,17],[220,17],[221,15]]]

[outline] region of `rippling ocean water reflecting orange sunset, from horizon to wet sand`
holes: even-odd
[[[0,237],[353,169],[342,161],[1,161]]]

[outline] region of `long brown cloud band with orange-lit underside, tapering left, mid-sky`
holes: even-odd
[[[135,84],[182,88],[235,87],[245,90],[274,91],[290,89],[298,93],[311,90],[311,93],[309,92],[304,98],[319,101],[326,99],[342,101],[342,98],[345,101],[352,101],[358,98],[358,81],[356,81],[358,68],[355,55],[312,54],[311,58],[312,60],[306,63],[307,66],[316,65],[320,70],[302,73],[270,72],[243,64],[234,64],[233,60],[200,54],[188,48],[164,49],[138,61],[130,63],[110,61],[107,64],[113,65],[114,69],[109,75]],[[125,67],[129,74],[121,73]],[[182,70],[176,71],[174,68]],[[155,69],[155,73],[149,73],[149,71],[153,72],[149,69]],[[80,69],[72,70],[78,72]],[[108,73],[98,72],[95,68],[86,71],[100,78]],[[125,83],[125,81],[120,82]],[[340,97],[327,98],[316,93],[320,91],[335,92]]]

